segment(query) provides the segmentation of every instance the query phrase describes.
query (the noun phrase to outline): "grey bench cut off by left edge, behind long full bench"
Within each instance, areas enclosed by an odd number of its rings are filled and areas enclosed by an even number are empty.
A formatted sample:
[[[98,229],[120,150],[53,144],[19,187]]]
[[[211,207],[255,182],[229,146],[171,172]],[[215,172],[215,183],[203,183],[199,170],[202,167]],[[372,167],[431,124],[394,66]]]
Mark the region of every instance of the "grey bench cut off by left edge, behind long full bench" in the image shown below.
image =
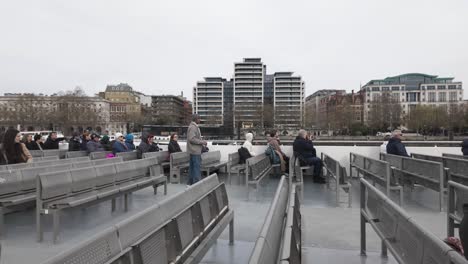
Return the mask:
[[[34,206],[36,200],[36,177],[39,173],[69,169],[71,164],[31,167],[0,172],[5,181],[0,184],[0,234],[4,233],[4,215]]]

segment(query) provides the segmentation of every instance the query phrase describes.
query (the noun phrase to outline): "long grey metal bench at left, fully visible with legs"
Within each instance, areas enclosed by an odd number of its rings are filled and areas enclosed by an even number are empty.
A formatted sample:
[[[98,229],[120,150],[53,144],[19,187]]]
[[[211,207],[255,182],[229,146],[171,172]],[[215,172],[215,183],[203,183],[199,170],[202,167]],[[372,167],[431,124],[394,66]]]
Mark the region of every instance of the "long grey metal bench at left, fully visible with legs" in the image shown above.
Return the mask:
[[[116,164],[71,169],[65,171],[40,173],[37,177],[36,230],[37,240],[42,241],[42,217],[53,216],[53,241],[59,233],[59,214],[61,210],[90,205],[124,196],[125,211],[128,208],[128,194],[152,186],[164,184],[167,193],[166,177],[150,175],[151,159],[140,159]],[[158,170],[157,170],[158,171]]]

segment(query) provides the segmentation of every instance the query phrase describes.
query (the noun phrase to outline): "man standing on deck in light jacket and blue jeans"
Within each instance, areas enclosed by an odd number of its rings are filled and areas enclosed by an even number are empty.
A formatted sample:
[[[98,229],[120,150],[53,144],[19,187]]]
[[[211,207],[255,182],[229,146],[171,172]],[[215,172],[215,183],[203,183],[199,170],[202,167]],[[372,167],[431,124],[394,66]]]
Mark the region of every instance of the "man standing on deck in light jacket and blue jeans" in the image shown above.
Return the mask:
[[[206,146],[206,141],[201,138],[200,116],[192,115],[192,122],[187,130],[187,152],[190,154],[189,180],[188,185],[192,185],[201,178],[201,153],[202,146]]]

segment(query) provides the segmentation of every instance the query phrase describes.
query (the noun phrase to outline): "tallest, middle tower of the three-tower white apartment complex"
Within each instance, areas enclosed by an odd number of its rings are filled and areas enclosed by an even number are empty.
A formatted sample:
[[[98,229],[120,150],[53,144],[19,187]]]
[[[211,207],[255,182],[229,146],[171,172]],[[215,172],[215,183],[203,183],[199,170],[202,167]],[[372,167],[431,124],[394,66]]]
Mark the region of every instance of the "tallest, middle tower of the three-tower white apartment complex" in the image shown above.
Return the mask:
[[[260,58],[234,63],[234,127],[263,127],[264,75]]]

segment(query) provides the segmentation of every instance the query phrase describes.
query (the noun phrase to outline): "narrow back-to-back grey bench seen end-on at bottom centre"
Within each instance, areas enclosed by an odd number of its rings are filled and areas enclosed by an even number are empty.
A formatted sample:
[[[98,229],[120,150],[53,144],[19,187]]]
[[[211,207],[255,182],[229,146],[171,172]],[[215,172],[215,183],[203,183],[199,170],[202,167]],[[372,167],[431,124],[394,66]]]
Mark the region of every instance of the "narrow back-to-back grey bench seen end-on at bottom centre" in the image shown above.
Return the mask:
[[[296,186],[285,176],[276,189],[250,255],[250,264],[301,263],[301,214]]]

